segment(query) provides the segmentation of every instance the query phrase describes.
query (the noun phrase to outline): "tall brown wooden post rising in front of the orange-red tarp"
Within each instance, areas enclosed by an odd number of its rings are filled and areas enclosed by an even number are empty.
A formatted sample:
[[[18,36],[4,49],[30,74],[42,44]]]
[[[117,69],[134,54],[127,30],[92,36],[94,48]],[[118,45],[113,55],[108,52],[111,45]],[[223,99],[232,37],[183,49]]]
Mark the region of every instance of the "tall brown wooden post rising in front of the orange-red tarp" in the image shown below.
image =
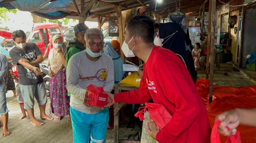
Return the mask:
[[[212,102],[212,95],[213,95],[213,74],[214,74],[214,33],[215,33],[215,11],[216,11],[216,0],[209,0],[209,15],[211,18],[209,18],[209,29],[208,29],[208,41],[207,45],[210,47],[210,51],[207,50],[207,55],[210,52],[210,89],[209,89],[209,103]],[[208,47],[207,47],[208,49]]]

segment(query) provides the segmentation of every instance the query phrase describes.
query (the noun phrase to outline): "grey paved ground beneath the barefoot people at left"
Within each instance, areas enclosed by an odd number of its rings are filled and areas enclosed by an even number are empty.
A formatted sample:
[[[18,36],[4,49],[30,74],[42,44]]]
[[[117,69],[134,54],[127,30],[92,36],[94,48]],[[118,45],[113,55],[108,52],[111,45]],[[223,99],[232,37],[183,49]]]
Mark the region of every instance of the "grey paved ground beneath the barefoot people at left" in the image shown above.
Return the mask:
[[[35,102],[36,103],[36,102]],[[16,97],[12,91],[7,93],[7,107],[9,109],[8,127],[11,132],[9,136],[0,135],[0,143],[73,143],[73,133],[71,123],[67,123],[67,118],[61,121],[41,120],[38,104],[35,104],[35,117],[43,122],[43,126],[33,126],[30,120],[25,118],[20,120],[21,111]],[[49,114],[49,98],[46,108]],[[1,120],[2,122],[2,120]],[[3,132],[3,125],[0,132]],[[113,142],[113,130],[107,131],[106,143]]]

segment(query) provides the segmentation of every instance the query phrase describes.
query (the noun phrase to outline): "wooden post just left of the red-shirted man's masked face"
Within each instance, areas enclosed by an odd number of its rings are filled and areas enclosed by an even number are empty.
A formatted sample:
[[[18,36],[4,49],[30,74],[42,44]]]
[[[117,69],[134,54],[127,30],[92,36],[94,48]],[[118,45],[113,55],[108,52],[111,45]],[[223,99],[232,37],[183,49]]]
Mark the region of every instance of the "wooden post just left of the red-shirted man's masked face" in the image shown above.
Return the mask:
[[[116,6],[115,10],[116,10],[116,14],[118,16],[119,43],[120,43],[120,45],[122,45],[122,43],[124,42],[124,39],[123,39],[121,4],[119,4],[119,6]],[[123,60],[123,62],[125,62],[125,56],[124,56],[124,53],[122,52],[122,50],[121,50],[121,59]]]

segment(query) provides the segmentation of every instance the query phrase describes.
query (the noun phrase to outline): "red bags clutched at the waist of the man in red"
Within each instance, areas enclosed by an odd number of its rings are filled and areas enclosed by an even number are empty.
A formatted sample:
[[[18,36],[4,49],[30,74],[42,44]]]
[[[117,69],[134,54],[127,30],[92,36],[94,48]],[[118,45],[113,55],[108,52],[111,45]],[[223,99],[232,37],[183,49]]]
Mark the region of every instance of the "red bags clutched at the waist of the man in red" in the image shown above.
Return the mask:
[[[143,113],[149,112],[149,118],[154,120],[159,129],[163,129],[164,126],[167,125],[172,119],[172,115],[166,110],[166,108],[161,104],[155,103],[145,103],[144,107],[140,107],[138,112],[134,115],[135,117],[139,117],[140,121],[144,120]]]

